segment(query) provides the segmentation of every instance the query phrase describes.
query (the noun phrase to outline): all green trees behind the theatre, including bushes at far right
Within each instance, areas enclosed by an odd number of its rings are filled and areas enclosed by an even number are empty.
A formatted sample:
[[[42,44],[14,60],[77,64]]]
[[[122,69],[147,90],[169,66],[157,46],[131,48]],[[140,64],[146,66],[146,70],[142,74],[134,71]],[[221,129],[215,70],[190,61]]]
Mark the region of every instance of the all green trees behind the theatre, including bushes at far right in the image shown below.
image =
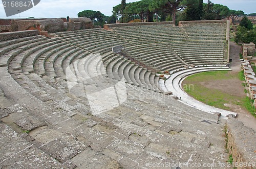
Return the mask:
[[[116,23],[116,20],[119,22],[174,21],[177,24],[181,20],[219,20],[227,17],[234,21],[238,16],[243,16],[234,41],[256,43],[256,27],[253,28],[243,11],[230,10],[210,0],[207,3],[203,3],[203,0],[141,0],[127,4],[125,0],[121,0],[121,4],[113,7],[112,12],[112,16],[105,16],[100,11],[84,10],[77,15],[88,17],[94,25],[101,27],[106,23]],[[256,16],[256,13],[248,16]]]

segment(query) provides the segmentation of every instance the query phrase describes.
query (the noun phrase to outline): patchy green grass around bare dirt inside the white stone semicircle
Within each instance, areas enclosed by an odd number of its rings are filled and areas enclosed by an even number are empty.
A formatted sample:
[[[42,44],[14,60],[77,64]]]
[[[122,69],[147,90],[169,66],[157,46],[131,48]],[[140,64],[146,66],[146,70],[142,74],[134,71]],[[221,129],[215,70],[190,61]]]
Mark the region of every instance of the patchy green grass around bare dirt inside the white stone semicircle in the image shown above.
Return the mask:
[[[183,86],[184,91],[189,95],[193,96],[200,102],[203,102],[207,105],[218,107],[224,110],[230,110],[230,107],[225,106],[224,104],[233,104],[238,105],[247,109],[255,118],[256,118],[256,109],[253,107],[253,100],[250,100],[248,96],[246,98],[241,98],[226,92],[223,92],[219,89],[207,88],[200,84],[200,82],[209,82],[214,80],[223,80],[223,79],[232,79],[239,78],[241,81],[245,80],[243,71],[240,71],[238,74],[228,74],[228,71],[209,71],[204,73],[195,74],[187,77]],[[191,86],[193,87],[187,87]],[[243,86],[246,86],[245,83],[242,83]],[[244,90],[247,93],[247,90]]]

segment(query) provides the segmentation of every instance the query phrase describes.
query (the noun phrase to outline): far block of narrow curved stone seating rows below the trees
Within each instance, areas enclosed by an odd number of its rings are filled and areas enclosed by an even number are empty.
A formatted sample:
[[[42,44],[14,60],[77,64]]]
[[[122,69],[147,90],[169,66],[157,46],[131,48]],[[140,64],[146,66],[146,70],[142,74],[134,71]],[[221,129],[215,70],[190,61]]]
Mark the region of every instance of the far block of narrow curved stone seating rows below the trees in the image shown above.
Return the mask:
[[[157,67],[174,70],[185,65],[227,64],[227,22],[111,27],[131,57]]]

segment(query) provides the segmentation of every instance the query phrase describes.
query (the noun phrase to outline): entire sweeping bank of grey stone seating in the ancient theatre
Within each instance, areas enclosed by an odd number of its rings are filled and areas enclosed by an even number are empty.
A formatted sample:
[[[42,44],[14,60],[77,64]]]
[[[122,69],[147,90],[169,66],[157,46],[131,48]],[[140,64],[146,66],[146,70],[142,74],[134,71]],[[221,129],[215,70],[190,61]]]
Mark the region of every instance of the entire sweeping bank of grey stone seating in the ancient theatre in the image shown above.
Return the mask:
[[[0,42],[0,168],[222,168],[230,154],[255,159],[254,131],[177,101],[152,71],[227,69],[227,25],[125,23]]]

